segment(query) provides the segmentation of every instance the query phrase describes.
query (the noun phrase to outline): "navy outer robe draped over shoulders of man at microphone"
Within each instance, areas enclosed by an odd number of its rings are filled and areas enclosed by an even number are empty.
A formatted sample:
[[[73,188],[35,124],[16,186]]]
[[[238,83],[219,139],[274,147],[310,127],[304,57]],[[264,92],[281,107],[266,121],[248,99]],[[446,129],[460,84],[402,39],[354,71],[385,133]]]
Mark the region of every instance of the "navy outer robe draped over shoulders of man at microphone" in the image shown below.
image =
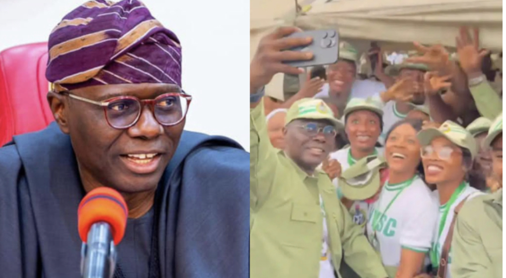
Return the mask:
[[[55,123],[0,148],[0,277],[80,277],[84,196],[70,138]],[[155,196],[149,276],[247,278],[248,196],[248,153],[184,131]]]

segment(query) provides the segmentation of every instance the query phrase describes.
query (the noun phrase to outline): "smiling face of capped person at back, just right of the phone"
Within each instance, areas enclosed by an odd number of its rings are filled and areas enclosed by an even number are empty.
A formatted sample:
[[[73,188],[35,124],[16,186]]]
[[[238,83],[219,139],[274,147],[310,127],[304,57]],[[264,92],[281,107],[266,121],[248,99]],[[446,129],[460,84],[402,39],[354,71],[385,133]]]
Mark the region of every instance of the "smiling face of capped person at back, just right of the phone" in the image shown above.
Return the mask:
[[[356,65],[347,60],[339,60],[328,66],[327,80],[331,92],[349,94],[357,74]]]

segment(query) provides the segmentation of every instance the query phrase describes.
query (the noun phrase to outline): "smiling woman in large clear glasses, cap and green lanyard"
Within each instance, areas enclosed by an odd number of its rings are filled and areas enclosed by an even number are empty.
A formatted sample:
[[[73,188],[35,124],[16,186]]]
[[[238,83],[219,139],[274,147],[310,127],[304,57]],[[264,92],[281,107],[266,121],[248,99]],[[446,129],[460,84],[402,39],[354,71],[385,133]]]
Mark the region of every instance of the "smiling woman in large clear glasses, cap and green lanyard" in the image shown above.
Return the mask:
[[[439,202],[439,215],[430,254],[433,267],[438,268],[455,208],[482,194],[467,181],[478,148],[473,135],[452,121],[444,122],[439,128],[422,130],[417,137],[422,145],[426,180],[437,188],[433,195]],[[446,278],[450,277],[451,263],[450,247],[445,262]]]

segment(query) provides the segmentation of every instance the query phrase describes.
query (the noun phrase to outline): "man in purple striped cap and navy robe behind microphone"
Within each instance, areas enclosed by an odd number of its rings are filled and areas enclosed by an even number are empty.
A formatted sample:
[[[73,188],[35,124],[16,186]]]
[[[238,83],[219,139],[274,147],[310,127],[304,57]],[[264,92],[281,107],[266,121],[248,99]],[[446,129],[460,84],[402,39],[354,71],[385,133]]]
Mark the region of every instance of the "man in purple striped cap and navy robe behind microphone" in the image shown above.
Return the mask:
[[[78,204],[110,187],[129,208],[114,277],[248,277],[249,155],[183,131],[176,34],[137,0],[94,0],[48,51],[55,122],[0,148],[2,276],[80,276]]]

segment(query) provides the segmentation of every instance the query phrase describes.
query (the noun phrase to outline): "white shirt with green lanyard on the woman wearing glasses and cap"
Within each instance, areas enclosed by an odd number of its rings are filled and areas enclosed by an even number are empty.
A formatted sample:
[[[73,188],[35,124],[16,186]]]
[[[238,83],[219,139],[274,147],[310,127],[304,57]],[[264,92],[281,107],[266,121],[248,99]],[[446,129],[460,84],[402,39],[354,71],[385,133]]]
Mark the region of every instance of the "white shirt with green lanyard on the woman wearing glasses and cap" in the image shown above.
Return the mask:
[[[448,228],[450,227],[451,221],[453,220],[453,211],[455,207],[466,197],[468,198],[466,200],[469,201],[472,198],[482,195],[483,193],[479,190],[472,188],[469,186],[469,183],[462,182],[460,186],[455,190],[455,192],[451,195],[450,199],[446,204],[439,206],[439,215],[437,220],[437,226],[435,229],[435,233],[433,236],[433,246],[431,248],[431,262],[433,267],[439,266],[439,259],[441,258],[441,251],[444,245],[444,242],[446,240],[446,236],[448,235]],[[439,203],[439,192],[436,190],[433,192],[434,198],[438,200]],[[469,197],[468,197],[469,196]],[[451,268],[451,247],[450,247],[450,253],[448,254],[448,267],[446,278],[450,278],[450,271]]]

